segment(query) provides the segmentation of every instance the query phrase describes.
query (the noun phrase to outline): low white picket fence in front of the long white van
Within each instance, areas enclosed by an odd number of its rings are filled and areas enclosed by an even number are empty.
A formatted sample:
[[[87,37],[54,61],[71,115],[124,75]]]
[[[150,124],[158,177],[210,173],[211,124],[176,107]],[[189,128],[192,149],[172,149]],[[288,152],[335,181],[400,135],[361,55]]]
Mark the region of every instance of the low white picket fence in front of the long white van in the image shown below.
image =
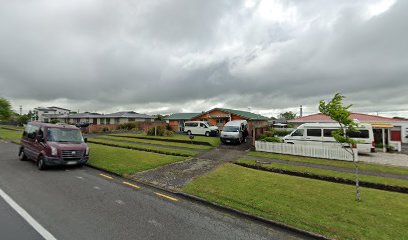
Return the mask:
[[[255,141],[255,149],[259,152],[353,161],[352,155],[338,143],[288,144]],[[355,160],[357,161],[358,151],[357,149],[354,150]]]

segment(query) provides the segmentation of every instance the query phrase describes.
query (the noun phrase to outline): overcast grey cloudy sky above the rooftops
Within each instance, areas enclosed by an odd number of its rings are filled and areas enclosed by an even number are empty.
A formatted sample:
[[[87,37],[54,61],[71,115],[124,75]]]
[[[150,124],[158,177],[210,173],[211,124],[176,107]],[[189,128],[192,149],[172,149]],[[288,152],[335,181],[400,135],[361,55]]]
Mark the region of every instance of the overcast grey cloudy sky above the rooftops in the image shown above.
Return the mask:
[[[408,1],[10,0],[0,96],[15,109],[266,116],[342,92],[408,117]]]

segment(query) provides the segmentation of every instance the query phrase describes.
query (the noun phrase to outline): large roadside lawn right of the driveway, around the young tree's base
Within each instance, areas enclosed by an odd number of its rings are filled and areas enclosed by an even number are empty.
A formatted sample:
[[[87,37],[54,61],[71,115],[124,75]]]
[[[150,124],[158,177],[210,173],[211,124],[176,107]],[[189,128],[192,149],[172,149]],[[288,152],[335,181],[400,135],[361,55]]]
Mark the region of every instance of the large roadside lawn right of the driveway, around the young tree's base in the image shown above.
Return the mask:
[[[185,192],[336,239],[406,239],[408,194],[224,164]]]

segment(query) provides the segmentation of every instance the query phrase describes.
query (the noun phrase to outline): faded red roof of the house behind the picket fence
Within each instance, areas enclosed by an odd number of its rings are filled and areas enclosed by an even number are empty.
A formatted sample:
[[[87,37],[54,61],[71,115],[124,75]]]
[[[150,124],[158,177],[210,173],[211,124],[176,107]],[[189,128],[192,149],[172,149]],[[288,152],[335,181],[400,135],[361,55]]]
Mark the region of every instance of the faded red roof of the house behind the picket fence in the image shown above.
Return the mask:
[[[374,116],[363,113],[352,113],[350,115],[351,119],[357,119],[360,122],[407,122],[407,120],[399,118],[388,118],[381,116]],[[309,116],[298,117],[288,122],[293,123],[305,123],[305,122],[334,122],[329,116],[324,115],[323,113],[316,113]]]

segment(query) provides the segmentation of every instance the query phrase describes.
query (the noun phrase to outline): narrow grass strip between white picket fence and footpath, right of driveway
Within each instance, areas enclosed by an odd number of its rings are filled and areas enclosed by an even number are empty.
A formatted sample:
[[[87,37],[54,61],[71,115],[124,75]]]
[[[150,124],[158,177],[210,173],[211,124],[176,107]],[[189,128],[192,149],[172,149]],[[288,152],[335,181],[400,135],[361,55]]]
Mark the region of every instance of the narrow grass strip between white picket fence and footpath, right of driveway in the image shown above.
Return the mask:
[[[264,158],[273,158],[273,159],[280,159],[280,160],[288,160],[288,161],[295,161],[295,162],[304,162],[304,163],[314,163],[314,164],[321,164],[327,166],[336,166],[336,167],[344,167],[344,168],[353,168],[353,162],[347,161],[340,161],[340,160],[328,160],[328,159],[321,159],[321,158],[311,158],[311,157],[302,157],[302,156],[294,156],[294,155],[285,155],[285,154],[278,154],[278,153],[267,153],[267,152],[249,152],[248,156],[255,156],[255,157],[264,157]],[[407,175],[408,168],[404,167],[391,167],[385,166],[380,164],[370,164],[370,163],[358,163],[359,169],[372,171],[372,172],[384,172],[384,173],[393,173],[393,174],[400,174],[400,175]]]

